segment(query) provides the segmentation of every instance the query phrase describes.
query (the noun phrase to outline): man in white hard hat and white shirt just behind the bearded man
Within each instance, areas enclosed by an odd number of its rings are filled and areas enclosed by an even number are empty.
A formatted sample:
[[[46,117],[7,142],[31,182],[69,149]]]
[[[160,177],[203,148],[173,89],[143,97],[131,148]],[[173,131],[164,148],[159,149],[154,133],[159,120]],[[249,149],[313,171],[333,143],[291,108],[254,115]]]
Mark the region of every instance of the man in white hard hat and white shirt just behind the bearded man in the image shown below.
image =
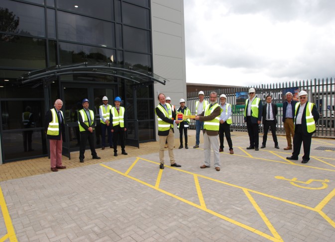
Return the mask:
[[[224,94],[220,95],[220,108],[222,110],[222,113],[220,115],[220,128],[219,128],[219,138],[220,138],[220,149],[219,152],[223,152],[223,142],[224,142],[224,135],[225,139],[228,142],[229,146],[229,153],[234,154],[234,151],[232,149],[232,142],[230,138],[230,124],[232,124],[231,121],[231,105],[229,103],[226,103],[227,97]]]

